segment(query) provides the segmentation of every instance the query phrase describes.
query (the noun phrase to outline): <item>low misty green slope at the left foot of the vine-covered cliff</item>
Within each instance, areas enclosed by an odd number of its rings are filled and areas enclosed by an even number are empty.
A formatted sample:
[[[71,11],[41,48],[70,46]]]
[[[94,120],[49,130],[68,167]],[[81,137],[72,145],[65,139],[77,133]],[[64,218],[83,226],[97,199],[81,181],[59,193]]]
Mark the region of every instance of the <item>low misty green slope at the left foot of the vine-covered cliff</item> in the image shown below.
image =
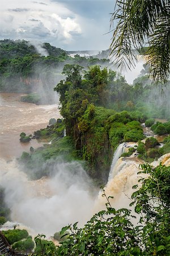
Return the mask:
[[[45,129],[35,131],[33,139],[45,141],[43,147],[31,148],[30,152],[23,152],[20,162],[25,164],[25,172],[32,179],[39,179],[42,176],[52,174],[49,166],[56,163],[56,159],[62,162],[81,160],[79,152],[74,148],[73,139],[69,136],[63,137],[65,125],[61,119],[57,119],[54,125]],[[82,163],[83,164],[83,163]]]

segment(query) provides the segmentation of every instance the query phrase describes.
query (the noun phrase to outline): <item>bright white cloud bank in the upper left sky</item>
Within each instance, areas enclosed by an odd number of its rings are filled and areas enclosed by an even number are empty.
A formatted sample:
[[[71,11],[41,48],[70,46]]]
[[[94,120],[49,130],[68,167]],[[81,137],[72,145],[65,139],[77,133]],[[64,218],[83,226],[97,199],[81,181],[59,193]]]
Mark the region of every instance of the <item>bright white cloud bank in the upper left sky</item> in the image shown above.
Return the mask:
[[[1,39],[57,40],[59,44],[69,44],[74,34],[82,32],[77,18],[61,3],[50,0],[6,1],[0,10],[0,35]]]

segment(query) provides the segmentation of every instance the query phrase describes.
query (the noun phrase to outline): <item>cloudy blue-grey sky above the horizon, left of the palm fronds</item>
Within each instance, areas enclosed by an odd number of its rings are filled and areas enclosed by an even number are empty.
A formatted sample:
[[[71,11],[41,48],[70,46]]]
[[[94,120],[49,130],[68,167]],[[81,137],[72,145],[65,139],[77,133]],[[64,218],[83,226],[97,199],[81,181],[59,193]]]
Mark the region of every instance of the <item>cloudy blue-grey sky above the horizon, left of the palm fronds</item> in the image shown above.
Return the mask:
[[[115,0],[0,0],[0,39],[48,42],[66,51],[111,43]]]

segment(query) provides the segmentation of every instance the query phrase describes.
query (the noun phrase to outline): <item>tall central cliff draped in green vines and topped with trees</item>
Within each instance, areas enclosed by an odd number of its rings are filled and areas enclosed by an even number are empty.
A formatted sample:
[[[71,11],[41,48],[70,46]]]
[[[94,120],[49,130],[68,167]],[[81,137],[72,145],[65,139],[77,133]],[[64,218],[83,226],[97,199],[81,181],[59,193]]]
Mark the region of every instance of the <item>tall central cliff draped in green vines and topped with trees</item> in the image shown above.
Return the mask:
[[[106,108],[117,97],[118,85],[129,88],[124,78],[116,78],[116,72],[99,66],[90,67],[83,77],[82,69],[79,65],[65,65],[66,80],[54,90],[60,96],[66,134],[73,139],[80,158],[87,160],[88,174],[105,183],[118,144],[137,142],[145,136],[133,113]]]

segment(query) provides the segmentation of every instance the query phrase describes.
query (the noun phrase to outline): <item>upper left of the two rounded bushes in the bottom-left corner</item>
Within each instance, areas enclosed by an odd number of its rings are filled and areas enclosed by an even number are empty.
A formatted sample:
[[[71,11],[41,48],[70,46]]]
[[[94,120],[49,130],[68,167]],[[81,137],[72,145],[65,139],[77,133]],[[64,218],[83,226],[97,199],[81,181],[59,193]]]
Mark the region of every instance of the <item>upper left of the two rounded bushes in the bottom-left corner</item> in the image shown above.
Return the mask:
[[[10,243],[10,245],[12,245],[12,243],[14,242],[18,242],[24,238],[28,237],[28,232],[25,229],[9,229],[6,231],[2,231],[2,233],[4,234],[4,236],[6,237],[8,243]]]

